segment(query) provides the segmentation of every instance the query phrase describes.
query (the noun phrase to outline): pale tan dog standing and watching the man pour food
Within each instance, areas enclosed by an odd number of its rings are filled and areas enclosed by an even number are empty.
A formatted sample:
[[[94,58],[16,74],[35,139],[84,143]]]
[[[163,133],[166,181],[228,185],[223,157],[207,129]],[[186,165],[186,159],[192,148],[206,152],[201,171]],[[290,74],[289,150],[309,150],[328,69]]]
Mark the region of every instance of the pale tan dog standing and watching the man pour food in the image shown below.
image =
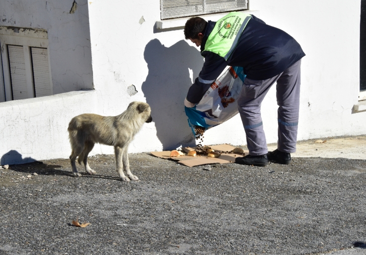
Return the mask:
[[[68,125],[71,144],[70,162],[75,177],[81,176],[77,171],[75,160],[84,163],[88,174],[96,174],[87,163],[87,156],[96,143],[114,146],[117,172],[123,181],[137,181],[137,176],[130,171],[128,145],[140,131],[142,125],[152,121],[151,108],[144,102],[132,102],[127,109],[117,116],[101,116],[85,113],[75,116]],[[125,176],[126,171],[128,177]]]

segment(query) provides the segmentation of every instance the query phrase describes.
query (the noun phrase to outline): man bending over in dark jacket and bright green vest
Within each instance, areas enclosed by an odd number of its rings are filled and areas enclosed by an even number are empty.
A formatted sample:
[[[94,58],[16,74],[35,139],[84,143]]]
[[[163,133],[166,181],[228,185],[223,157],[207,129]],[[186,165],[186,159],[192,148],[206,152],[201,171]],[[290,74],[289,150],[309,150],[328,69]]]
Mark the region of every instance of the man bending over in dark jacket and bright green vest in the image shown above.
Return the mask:
[[[232,12],[217,22],[194,17],[184,29],[186,39],[205,57],[204,66],[190,87],[185,106],[194,107],[226,66],[243,67],[246,78],[238,109],[246,134],[249,155],[236,158],[243,165],[266,166],[268,158],[291,162],[296,151],[300,104],[300,65],[305,53],[286,32],[268,26],[253,15]],[[261,102],[277,82],[278,149],[268,153]],[[268,154],[268,155],[267,155]]]

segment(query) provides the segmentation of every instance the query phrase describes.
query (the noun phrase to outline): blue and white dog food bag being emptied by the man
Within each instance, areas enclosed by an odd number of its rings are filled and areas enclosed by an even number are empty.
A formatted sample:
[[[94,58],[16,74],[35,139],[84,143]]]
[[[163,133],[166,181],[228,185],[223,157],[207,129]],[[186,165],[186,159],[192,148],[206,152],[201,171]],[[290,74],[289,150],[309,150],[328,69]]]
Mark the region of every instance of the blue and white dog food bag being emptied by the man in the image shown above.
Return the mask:
[[[206,91],[201,101],[192,108],[185,107],[188,124],[196,135],[196,126],[205,130],[221,124],[238,113],[239,98],[245,74],[242,67],[229,67]]]

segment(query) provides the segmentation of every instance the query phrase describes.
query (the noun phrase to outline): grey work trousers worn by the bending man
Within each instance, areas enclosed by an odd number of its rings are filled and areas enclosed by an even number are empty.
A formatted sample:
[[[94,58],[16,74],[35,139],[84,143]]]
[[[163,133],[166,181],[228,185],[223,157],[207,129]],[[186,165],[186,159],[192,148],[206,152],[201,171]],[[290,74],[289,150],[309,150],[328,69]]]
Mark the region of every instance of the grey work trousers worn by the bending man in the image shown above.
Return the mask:
[[[277,148],[281,152],[296,152],[300,105],[300,66],[301,60],[283,73],[267,80],[245,78],[238,98],[238,108],[244,125],[249,155],[268,153],[260,106],[264,96],[275,82],[277,82],[276,97],[279,105]]]

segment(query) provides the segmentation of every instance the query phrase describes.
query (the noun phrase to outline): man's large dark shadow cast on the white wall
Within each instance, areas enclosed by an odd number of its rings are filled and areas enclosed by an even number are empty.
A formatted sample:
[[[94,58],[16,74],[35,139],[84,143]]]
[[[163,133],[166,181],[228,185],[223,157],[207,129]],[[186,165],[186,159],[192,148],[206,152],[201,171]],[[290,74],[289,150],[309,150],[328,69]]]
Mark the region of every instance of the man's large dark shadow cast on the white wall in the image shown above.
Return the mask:
[[[144,58],[149,69],[142,91],[150,104],[156,135],[164,150],[195,145],[188,125],[183,101],[204,63],[200,52],[181,40],[165,47],[151,40],[145,47]]]

